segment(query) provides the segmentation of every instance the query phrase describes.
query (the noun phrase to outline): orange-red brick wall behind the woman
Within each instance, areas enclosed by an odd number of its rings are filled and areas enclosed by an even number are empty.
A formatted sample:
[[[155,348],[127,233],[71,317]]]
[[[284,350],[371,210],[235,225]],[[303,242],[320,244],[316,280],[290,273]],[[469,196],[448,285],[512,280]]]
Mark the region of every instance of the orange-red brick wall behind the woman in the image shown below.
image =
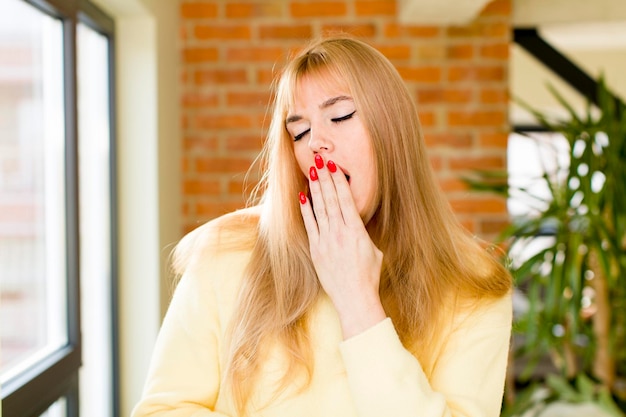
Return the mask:
[[[267,127],[269,84],[310,37],[350,32],[396,65],[418,102],[431,163],[462,222],[492,237],[502,199],[468,192],[474,168],[503,168],[511,0],[462,27],[398,23],[393,0],[180,1],[185,230],[244,205]]]

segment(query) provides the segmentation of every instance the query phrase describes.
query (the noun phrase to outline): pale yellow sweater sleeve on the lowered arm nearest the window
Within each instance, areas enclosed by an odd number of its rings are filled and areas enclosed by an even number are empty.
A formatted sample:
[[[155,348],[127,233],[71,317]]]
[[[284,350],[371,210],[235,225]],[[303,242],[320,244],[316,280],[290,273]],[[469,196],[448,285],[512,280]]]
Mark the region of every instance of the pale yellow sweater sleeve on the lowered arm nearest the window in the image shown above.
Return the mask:
[[[213,411],[220,389],[220,321],[210,271],[182,276],[159,331],[140,402],[131,416],[224,417]]]

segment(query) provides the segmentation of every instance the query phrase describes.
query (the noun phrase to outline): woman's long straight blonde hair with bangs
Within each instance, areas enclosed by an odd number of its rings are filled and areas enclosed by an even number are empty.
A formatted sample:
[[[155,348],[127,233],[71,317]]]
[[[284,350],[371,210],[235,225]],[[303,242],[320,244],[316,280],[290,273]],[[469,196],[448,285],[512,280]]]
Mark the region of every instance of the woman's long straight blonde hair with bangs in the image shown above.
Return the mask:
[[[225,383],[242,413],[258,377],[262,348],[270,340],[289,353],[281,388],[297,373],[310,377],[313,372],[307,320],[323,290],[297,198],[307,181],[285,128],[304,76],[345,86],[371,137],[380,191],[367,228],[384,254],[381,301],[405,346],[423,364],[431,363],[429,347],[436,340],[442,305],[501,297],[511,287],[506,270],[459,225],[437,186],[416,106],[392,64],[355,39],[313,42],[281,74],[262,152],[262,212],[228,335]],[[428,373],[430,367],[425,369]]]

